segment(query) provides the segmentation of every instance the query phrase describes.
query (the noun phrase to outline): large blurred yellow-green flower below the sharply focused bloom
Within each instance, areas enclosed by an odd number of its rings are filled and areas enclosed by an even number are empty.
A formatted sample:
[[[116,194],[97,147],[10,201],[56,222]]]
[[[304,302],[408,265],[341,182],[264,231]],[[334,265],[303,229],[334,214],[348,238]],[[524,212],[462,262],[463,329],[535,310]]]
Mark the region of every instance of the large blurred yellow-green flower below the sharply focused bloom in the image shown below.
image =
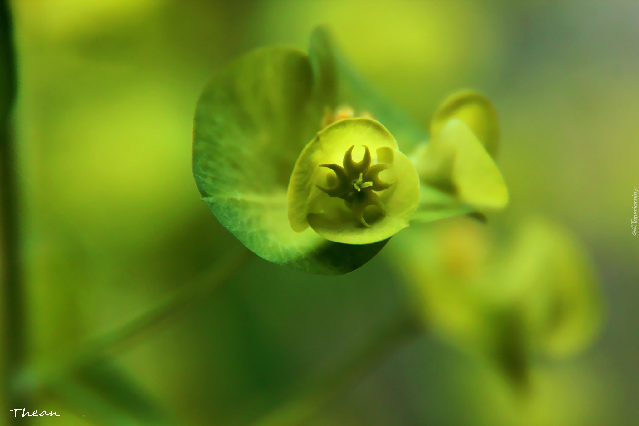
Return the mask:
[[[420,310],[448,342],[527,381],[534,354],[562,358],[587,347],[601,325],[589,261],[562,228],[539,218],[498,245],[470,219],[413,227],[390,253]]]

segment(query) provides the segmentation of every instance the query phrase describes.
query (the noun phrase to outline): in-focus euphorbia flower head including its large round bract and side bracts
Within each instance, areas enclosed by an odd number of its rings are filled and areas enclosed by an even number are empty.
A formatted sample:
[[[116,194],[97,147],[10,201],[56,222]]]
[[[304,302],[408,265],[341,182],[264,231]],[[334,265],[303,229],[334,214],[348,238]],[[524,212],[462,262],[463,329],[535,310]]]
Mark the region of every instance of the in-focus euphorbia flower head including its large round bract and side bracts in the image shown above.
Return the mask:
[[[481,125],[494,126],[485,105],[469,100],[436,116],[452,124],[429,148],[426,133],[358,79],[319,28],[308,55],[266,47],[212,77],[197,104],[193,174],[215,217],[259,256],[346,273],[411,222],[503,207],[504,197],[488,200],[505,186],[482,151]],[[438,165],[450,159],[452,173]]]

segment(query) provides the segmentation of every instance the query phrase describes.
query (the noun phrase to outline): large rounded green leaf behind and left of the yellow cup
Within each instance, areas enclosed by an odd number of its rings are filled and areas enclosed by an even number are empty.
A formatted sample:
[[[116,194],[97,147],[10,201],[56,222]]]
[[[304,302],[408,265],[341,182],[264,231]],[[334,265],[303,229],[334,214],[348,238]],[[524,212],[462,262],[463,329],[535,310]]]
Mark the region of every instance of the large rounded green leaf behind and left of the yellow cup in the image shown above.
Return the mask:
[[[289,224],[289,177],[321,122],[313,82],[309,57],[288,47],[256,50],[224,68],[197,103],[193,174],[215,217],[254,253],[337,275],[362,266],[385,241],[334,243]]]

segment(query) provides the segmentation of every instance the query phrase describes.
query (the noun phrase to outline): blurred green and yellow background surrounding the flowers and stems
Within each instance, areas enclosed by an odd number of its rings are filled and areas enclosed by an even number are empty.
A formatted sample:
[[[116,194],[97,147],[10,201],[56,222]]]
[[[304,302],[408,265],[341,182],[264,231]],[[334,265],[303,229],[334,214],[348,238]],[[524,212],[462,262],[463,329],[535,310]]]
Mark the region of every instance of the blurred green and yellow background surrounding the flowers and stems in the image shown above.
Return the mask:
[[[13,10],[31,361],[126,324],[241,248],[191,175],[197,97],[233,57],[271,43],[305,50],[312,27],[328,24],[424,128],[454,89],[488,95],[511,192],[498,229],[533,213],[566,225],[592,256],[607,316],[585,353],[540,361],[523,406],[485,365],[426,333],[307,424],[639,424],[639,241],[629,227],[638,4],[14,0]],[[341,277],[252,257],[112,363],[180,424],[251,424],[338,369],[409,302],[383,252]],[[38,423],[106,422],[41,397],[32,409],[62,416]]]

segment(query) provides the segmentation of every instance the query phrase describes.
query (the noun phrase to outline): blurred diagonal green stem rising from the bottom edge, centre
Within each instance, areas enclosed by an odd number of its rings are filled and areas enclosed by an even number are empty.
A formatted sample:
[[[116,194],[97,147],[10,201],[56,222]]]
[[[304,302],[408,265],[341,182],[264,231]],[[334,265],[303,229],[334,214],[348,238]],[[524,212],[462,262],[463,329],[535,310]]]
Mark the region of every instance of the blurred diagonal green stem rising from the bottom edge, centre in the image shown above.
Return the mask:
[[[357,347],[338,369],[325,377],[307,377],[305,388],[293,389],[295,395],[253,426],[298,426],[307,423],[335,397],[355,384],[366,372],[381,363],[389,354],[417,337],[424,328],[422,320],[412,312],[406,312],[378,331],[365,344]],[[307,383],[312,383],[308,387]]]

